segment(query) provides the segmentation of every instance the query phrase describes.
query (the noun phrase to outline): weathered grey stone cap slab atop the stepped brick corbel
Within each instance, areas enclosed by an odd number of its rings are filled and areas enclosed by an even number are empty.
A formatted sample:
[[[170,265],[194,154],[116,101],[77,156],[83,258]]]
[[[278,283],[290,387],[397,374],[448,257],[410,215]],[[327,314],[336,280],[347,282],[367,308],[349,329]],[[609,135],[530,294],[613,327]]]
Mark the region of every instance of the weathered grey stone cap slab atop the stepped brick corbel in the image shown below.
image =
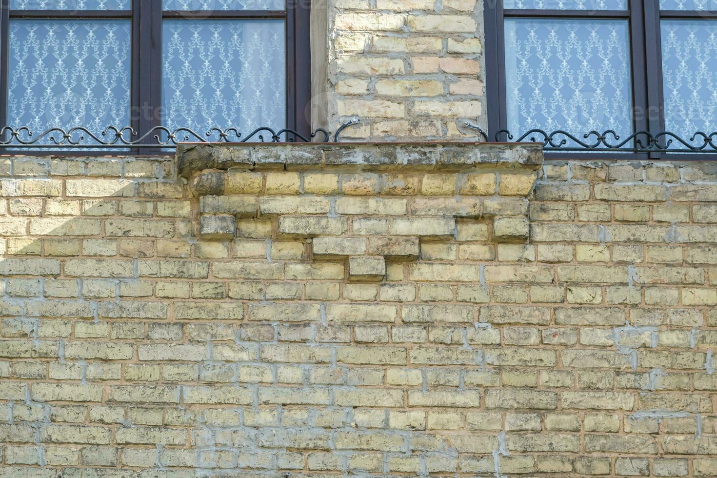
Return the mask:
[[[475,168],[537,170],[543,165],[540,143],[421,141],[412,143],[179,143],[180,176],[214,169],[255,171],[340,168],[351,171],[441,170]]]

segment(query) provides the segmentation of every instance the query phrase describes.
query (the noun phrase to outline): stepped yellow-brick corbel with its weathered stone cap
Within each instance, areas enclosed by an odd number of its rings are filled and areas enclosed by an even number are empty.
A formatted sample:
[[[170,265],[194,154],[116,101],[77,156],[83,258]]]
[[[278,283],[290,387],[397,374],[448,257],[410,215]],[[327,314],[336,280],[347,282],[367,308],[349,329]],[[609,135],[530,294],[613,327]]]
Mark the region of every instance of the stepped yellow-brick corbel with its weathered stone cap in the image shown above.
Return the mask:
[[[516,143],[194,144],[177,152],[199,201],[201,239],[234,239],[245,221],[267,221],[273,236],[302,240],[313,260],[346,261],[358,282],[381,281],[386,261],[417,260],[420,244],[457,237],[466,224],[493,242],[526,242],[527,197],[542,161],[536,145]],[[357,227],[361,217],[370,219]]]

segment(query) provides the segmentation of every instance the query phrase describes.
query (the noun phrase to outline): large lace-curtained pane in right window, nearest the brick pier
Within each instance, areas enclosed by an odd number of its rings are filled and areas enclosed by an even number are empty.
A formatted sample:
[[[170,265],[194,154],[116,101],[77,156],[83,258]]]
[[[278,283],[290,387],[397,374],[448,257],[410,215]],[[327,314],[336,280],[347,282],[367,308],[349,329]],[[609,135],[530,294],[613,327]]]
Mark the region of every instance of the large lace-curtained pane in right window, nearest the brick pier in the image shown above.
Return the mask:
[[[566,130],[579,139],[591,130],[630,135],[628,31],[622,20],[506,19],[506,102],[513,136],[533,128]]]

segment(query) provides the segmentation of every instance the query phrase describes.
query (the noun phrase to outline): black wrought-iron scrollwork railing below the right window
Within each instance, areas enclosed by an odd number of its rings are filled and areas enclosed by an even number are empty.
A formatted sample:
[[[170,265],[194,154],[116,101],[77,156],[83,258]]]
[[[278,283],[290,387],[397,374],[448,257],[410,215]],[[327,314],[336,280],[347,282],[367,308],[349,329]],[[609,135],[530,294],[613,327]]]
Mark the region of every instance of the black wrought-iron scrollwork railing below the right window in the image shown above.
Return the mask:
[[[466,121],[467,128],[477,130],[484,140],[488,141],[488,134],[480,126]],[[555,130],[550,133],[546,130],[532,129],[516,136],[508,130],[500,130],[495,133],[494,140],[497,142],[523,142],[543,143],[545,151],[619,151],[624,153],[717,153],[717,131],[704,133],[697,131],[689,140],[671,131],[652,134],[649,131],[638,131],[620,138],[614,130],[589,131],[576,137],[564,130]]]

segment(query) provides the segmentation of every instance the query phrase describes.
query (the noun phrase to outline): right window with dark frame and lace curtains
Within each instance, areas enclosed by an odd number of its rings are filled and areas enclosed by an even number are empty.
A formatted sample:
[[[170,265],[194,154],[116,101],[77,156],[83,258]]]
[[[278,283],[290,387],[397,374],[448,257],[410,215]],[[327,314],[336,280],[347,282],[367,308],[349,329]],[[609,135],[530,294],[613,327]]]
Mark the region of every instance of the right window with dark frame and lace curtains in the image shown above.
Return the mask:
[[[716,10],[717,0],[486,2],[490,137],[714,153]]]

